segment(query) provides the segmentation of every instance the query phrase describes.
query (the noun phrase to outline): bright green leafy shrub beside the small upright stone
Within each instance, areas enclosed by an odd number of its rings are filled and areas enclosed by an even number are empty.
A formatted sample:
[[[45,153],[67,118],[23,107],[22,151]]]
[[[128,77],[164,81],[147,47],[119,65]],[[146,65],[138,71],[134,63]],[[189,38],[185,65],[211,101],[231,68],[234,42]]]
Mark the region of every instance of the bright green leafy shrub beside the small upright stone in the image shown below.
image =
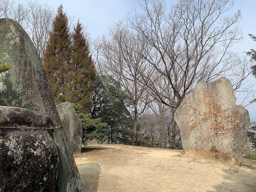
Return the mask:
[[[83,106],[79,103],[73,104],[76,113],[78,114],[83,128],[82,143],[87,145],[87,140],[99,139],[102,140],[107,130],[107,123],[102,123],[100,118],[92,119],[89,114],[82,113]]]

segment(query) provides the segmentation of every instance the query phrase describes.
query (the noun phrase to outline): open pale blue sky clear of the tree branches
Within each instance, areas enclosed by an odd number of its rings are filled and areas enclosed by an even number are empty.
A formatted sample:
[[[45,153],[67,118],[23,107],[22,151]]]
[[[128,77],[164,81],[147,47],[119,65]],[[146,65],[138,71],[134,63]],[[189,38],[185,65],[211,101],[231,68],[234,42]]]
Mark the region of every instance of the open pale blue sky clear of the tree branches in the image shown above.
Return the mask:
[[[16,0],[18,3],[26,4],[26,0]],[[168,5],[173,5],[177,0],[167,0]],[[63,8],[68,15],[75,16],[74,22],[80,19],[80,22],[87,26],[87,32],[91,38],[95,38],[103,33],[108,33],[108,26],[113,22],[125,16],[127,12],[139,10],[137,0],[38,0],[40,4],[48,4],[56,8],[62,3]],[[244,40],[237,43],[233,49],[237,52],[249,51],[251,48],[256,49],[256,42],[248,36],[248,34],[256,35],[256,1],[255,0],[235,0],[236,6],[230,10],[230,14],[241,10],[243,20],[239,23],[243,27]],[[250,81],[256,83],[256,79],[251,76]],[[256,86],[254,86],[256,89]],[[256,103],[247,107],[251,120],[256,120]]]

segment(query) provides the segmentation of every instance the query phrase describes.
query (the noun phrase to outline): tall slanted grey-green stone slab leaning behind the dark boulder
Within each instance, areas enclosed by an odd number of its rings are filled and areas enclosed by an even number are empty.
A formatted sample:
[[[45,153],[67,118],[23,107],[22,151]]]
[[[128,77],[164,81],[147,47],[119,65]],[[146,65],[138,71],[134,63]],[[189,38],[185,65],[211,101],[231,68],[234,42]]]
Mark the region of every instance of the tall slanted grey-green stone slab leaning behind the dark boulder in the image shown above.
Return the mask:
[[[0,19],[0,61],[12,68],[0,74],[2,105],[46,112],[52,127],[61,125],[44,67],[36,47],[24,29],[14,20]],[[74,157],[62,128],[49,132],[60,159],[58,191],[83,191]]]

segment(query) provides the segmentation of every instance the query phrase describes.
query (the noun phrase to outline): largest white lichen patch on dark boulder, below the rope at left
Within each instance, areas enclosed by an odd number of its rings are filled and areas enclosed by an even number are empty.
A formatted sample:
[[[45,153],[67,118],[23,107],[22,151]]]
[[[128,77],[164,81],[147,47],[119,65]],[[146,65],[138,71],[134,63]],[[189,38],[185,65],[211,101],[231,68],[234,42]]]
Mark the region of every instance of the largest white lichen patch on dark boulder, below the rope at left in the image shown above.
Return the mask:
[[[9,149],[8,155],[14,156],[14,162],[16,164],[20,164],[20,161],[22,160],[22,154],[23,150],[22,147],[18,145],[15,139],[10,138],[7,142],[5,142],[5,146]]]

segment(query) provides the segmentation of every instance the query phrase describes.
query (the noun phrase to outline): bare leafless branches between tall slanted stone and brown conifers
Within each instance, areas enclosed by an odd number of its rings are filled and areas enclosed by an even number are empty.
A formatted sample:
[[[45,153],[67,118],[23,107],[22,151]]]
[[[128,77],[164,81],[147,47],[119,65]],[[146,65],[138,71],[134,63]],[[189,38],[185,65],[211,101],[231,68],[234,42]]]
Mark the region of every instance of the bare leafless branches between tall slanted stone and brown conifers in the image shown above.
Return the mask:
[[[52,7],[37,1],[27,1],[25,6],[16,4],[15,0],[0,1],[0,17],[16,20],[32,39],[41,58],[55,15]]]

